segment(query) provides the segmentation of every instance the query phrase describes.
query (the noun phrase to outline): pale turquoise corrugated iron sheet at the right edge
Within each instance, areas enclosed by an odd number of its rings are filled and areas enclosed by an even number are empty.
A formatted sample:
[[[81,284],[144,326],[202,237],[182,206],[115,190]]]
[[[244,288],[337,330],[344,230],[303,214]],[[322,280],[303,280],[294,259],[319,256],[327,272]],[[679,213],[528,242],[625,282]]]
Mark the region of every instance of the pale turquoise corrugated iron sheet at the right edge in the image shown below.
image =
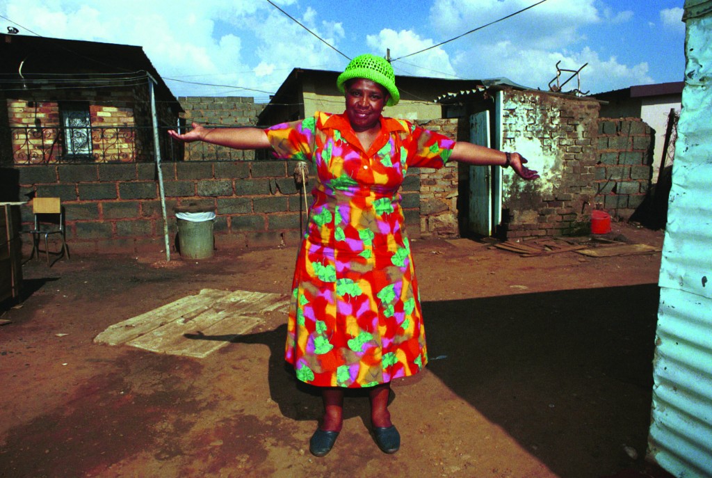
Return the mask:
[[[688,4],[686,4],[688,6]],[[663,246],[649,458],[712,477],[712,15],[688,16]]]

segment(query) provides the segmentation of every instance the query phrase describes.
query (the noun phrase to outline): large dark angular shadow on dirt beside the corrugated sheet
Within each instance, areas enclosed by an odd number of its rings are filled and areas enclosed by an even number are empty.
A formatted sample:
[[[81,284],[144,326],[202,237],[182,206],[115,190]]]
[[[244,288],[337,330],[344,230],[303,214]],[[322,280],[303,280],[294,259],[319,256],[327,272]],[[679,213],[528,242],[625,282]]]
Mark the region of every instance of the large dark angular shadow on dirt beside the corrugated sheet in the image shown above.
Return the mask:
[[[562,477],[646,450],[659,288],[423,304],[431,373]]]

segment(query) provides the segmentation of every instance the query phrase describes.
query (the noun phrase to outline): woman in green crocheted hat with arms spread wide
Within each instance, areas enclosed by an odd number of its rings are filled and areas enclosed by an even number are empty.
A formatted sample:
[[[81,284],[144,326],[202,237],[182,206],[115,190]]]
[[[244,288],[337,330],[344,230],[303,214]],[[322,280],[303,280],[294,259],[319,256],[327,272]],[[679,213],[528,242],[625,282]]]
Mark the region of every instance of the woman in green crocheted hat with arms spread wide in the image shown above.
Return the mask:
[[[398,189],[408,167],[448,160],[512,167],[538,177],[518,153],[455,142],[403,120],[384,118],[399,92],[378,56],[354,58],[337,79],[342,115],[257,128],[193,125],[182,141],[237,149],[272,147],[279,157],[309,160],[317,172],[308,232],[300,246],[288,319],[286,360],[297,378],[320,387],[323,420],[310,451],[323,457],[342,427],[344,388],[366,388],[378,447],[397,452],[400,435],[387,408],[390,382],[427,363],[417,280]]]

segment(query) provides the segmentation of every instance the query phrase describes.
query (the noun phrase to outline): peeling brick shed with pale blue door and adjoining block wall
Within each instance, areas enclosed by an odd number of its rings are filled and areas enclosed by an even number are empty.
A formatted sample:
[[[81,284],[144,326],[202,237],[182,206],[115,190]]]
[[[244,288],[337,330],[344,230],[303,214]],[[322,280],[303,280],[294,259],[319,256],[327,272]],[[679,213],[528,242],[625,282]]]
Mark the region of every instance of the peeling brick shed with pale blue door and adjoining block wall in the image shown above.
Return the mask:
[[[646,197],[651,129],[634,118],[602,120],[595,98],[505,83],[443,95],[444,118],[459,118],[461,140],[518,151],[540,172],[459,170],[461,231],[510,239],[588,232],[593,209],[628,219]],[[461,131],[462,131],[461,127]]]

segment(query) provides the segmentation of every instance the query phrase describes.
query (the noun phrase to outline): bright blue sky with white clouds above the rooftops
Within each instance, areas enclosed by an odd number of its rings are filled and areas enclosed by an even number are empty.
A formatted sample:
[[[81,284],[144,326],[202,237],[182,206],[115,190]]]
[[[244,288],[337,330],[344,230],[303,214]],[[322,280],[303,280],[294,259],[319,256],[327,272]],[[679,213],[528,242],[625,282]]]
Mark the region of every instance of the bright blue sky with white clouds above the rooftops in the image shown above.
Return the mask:
[[[345,56],[406,56],[538,0],[273,0]],[[683,0],[547,0],[392,64],[397,74],[506,77],[548,89],[555,65],[591,93],[684,76]],[[292,68],[342,70],[347,59],[267,0],[0,0],[0,28],[138,45],[177,96],[268,100]],[[31,68],[31,61],[25,67]],[[39,68],[39,67],[38,67]],[[38,71],[39,72],[39,71]],[[562,74],[562,78],[567,78]],[[177,80],[182,80],[177,81]],[[197,85],[192,83],[206,83]],[[567,88],[575,88],[575,82]]]

